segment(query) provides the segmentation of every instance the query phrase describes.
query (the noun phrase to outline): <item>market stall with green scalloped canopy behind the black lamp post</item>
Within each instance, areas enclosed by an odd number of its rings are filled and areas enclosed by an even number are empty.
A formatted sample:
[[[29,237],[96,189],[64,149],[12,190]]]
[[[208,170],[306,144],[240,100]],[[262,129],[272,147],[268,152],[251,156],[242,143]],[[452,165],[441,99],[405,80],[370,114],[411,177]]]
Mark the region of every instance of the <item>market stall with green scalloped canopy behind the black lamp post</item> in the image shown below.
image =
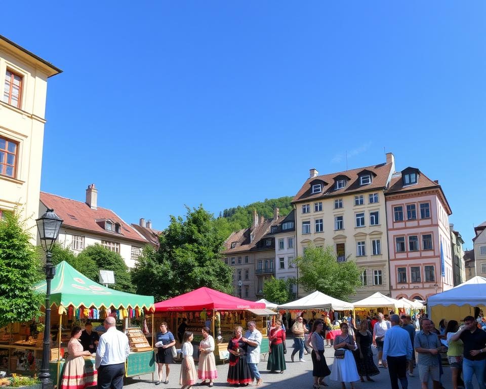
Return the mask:
[[[56,276],[51,282],[51,288],[50,370],[56,372],[52,377],[55,384],[62,371],[63,357],[67,352],[67,342],[73,326],[83,327],[84,323],[90,321],[93,327],[96,327],[102,324],[107,316],[113,316],[119,320],[118,324],[122,329],[126,329],[131,321],[142,322],[146,318],[151,318],[148,310],[153,309],[152,296],[140,296],[106,288],[88,279],[65,261],[56,266]],[[46,282],[37,284],[35,289],[39,293],[45,293]],[[43,309],[44,307],[41,308]],[[41,317],[32,323],[11,323],[7,328],[0,330],[0,355],[6,356],[7,360],[3,359],[2,362],[4,365],[7,364],[8,371],[34,373],[38,370],[42,358],[43,319]],[[152,345],[147,342],[145,336],[143,339],[144,342],[141,339],[138,344],[130,344],[132,353],[127,361],[128,366],[139,351],[149,351],[153,355]],[[142,344],[145,349],[142,349]],[[87,358],[86,366],[93,369],[93,361],[94,357]],[[147,365],[144,373],[153,371],[154,365]]]

